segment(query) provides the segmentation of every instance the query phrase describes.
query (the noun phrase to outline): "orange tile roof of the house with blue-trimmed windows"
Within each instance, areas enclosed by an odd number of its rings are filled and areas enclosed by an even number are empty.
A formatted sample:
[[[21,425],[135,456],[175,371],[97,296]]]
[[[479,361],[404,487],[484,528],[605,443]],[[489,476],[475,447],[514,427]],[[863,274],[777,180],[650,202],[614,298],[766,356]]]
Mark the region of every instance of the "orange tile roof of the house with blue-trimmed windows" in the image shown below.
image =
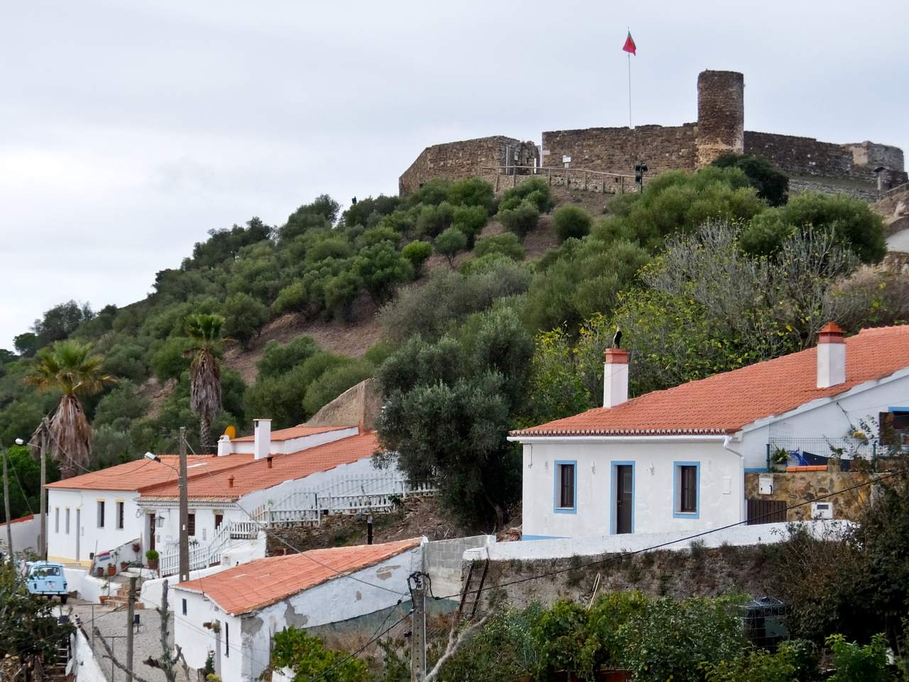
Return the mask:
[[[817,387],[817,349],[639,396],[612,408],[512,431],[512,436],[731,434],[816,398],[836,396],[909,366],[909,326],[863,329],[845,340],[846,381]]]

